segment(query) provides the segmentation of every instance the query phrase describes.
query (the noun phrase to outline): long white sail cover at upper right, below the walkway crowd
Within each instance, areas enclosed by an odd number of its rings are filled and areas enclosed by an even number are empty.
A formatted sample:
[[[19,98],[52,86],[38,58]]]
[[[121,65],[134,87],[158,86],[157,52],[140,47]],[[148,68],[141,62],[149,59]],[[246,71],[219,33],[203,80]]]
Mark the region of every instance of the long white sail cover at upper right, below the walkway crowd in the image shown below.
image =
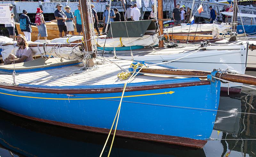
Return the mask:
[[[230,27],[231,25],[229,24],[194,24],[164,28],[164,33],[208,32],[213,30],[225,33]]]

